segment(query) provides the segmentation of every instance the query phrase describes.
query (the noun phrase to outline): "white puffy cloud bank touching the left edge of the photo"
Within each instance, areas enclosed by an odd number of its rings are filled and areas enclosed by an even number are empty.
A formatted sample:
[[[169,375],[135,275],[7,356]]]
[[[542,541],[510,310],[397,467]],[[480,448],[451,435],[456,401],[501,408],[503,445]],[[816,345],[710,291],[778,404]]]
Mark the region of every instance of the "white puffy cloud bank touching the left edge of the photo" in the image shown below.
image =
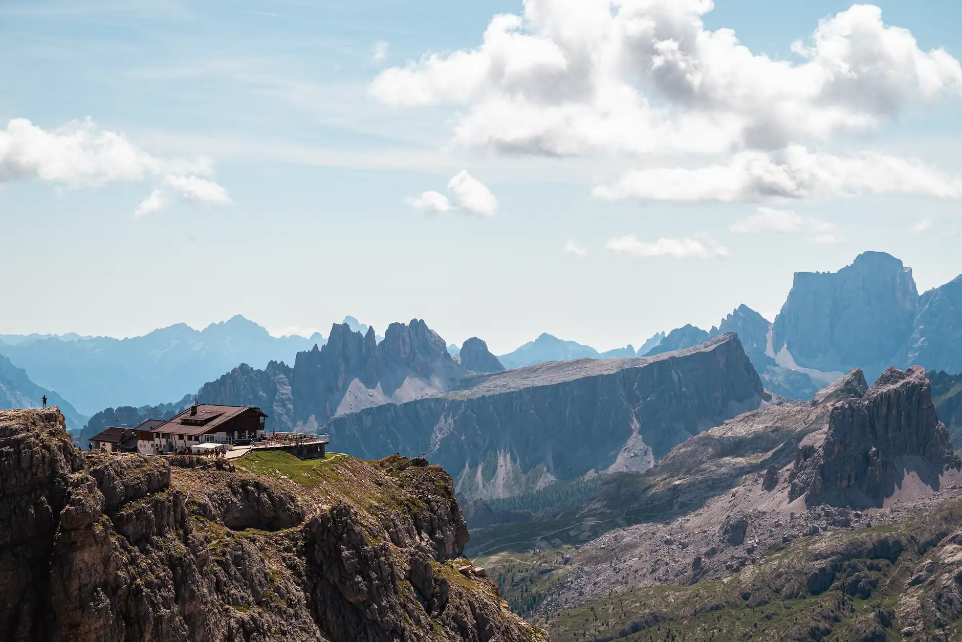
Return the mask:
[[[139,149],[126,136],[99,129],[90,119],[44,130],[27,119],[0,130],[0,184],[39,179],[70,187],[159,181],[136,213],[163,209],[171,193],[201,203],[229,203],[227,191],[197,174],[207,160],[165,160]]]

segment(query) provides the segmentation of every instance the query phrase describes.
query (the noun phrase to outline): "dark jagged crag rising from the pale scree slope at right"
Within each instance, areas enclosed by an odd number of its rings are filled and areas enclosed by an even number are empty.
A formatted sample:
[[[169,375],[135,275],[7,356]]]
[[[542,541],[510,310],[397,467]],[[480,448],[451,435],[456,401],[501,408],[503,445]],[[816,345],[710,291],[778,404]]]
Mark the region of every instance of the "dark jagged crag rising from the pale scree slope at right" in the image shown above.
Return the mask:
[[[864,385],[860,374],[849,373],[840,391],[856,394]],[[789,499],[804,496],[808,506],[881,506],[906,475],[938,487],[949,466],[960,462],[936,415],[924,369],[889,368],[861,397],[837,402],[827,429],[799,442]]]

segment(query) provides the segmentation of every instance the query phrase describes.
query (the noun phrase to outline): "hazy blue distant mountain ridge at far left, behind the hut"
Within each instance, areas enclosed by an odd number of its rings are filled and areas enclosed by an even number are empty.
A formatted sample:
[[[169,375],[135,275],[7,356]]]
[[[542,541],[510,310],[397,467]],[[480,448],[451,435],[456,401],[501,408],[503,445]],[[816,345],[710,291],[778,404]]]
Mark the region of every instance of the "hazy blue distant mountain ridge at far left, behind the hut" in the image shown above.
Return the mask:
[[[179,399],[238,363],[293,360],[323,337],[273,337],[241,315],[194,330],[177,324],[125,339],[75,334],[0,336],[0,354],[81,412],[118,402],[139,407]]]

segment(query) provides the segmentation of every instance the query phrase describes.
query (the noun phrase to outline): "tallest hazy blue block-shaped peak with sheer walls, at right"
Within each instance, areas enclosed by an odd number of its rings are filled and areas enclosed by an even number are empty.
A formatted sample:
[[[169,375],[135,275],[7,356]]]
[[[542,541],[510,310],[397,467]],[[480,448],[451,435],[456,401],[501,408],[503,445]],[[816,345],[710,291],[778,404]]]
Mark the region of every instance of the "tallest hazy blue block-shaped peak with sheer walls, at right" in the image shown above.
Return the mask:
[[[871,380],[904,362],[918,300],[911,268],[881,252],[861,254],[835,273],[797,272],[772,347],[788,350],[799,366],[863,368]]]

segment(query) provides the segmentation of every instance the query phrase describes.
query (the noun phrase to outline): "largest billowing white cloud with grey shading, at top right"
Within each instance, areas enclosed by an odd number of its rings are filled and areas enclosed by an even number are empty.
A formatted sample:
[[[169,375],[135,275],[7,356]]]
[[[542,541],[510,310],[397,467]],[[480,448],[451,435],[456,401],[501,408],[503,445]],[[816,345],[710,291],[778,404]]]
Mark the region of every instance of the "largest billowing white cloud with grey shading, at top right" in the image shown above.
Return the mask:
[[[482,44],[379,74],[399,107],[467,106],[455,138],[535,154],[779,149],[864,132],[913,103],[962,92],[943,49],[855,5],[820,21],[801,62],[752,53],[706,30],[711,0],[526,0]]]

